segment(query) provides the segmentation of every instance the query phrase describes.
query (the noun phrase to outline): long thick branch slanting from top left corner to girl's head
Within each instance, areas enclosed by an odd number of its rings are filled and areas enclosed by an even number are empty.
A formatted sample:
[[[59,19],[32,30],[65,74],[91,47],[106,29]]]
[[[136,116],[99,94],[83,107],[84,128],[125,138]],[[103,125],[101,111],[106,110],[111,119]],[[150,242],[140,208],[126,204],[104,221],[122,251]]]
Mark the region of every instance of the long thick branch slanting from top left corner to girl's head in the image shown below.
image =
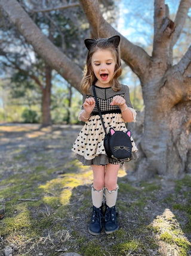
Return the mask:
[[[16,0],[0,0],[0,8],[10,17],[26,41],[44,61],[80,91],[82,70],[61,52],[35,25]]]

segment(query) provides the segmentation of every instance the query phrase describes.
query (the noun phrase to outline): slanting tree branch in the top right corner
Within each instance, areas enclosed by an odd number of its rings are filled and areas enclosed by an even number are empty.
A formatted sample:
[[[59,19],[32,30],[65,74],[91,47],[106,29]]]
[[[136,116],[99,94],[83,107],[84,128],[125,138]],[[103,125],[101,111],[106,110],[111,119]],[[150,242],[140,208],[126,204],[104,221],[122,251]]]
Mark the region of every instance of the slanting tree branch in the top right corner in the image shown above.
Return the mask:
[[[174,46],[174,44],[177,42],[178,38],[180,37],[181,30],[183,29],[185,20],[187,19],[187,13],[191,7],[191,0],[181,0],[177,15],[175,17],[174,23],[175,23],[175,31],[173,34],[173,38],[171,41],[171,47]]]

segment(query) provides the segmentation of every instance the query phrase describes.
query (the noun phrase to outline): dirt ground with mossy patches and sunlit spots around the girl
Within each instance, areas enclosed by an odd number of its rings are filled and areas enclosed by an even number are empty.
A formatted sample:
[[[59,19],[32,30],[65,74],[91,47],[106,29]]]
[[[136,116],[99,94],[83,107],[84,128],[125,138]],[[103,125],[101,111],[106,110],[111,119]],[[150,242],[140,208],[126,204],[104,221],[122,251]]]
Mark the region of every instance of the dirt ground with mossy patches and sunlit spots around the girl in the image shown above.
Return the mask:
[[[191,176],[119,171],[119,230],[88,233],[90,167],[75,159],[81,127],[0,125],[0,255],[191,255]]]

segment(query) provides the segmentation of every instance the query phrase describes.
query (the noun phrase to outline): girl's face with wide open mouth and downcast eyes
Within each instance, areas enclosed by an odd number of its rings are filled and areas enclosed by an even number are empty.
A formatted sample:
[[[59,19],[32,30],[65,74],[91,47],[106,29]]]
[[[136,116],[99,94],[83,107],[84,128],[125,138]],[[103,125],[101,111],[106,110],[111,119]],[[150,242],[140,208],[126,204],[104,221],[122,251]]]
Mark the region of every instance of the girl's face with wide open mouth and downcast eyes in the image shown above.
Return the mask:
[[[91,58],[91,66],[97,77],[96,85],[100,87],[112,86],[115,71],[115,59],[110,50],[97,50]]]

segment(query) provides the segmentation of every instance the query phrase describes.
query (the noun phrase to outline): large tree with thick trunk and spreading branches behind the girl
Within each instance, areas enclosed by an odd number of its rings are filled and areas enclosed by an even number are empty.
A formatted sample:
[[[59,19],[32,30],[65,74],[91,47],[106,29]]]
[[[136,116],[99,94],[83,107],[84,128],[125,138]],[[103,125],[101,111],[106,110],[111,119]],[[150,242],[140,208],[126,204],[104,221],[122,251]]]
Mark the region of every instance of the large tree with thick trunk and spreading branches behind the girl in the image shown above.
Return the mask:
[[[104,19],[98,1],[79,2],[93,37],[119,34]],[[39,56],[79,90],[82,77],[79,65],[48,40],[16,0],[0,0],[0,7]],[[190,171],[187,167],[191,150],[191,46],[177,64],[172,63],[173,47],[180,37],[190,7],[190,0],[181,0],[172,21],[165,1],[155,0],[151,55],[121,35],[122,59],[137,74],[143,92],[144,129],[137,173],[144,177],[156,172],[177,176],[183,171]]]

